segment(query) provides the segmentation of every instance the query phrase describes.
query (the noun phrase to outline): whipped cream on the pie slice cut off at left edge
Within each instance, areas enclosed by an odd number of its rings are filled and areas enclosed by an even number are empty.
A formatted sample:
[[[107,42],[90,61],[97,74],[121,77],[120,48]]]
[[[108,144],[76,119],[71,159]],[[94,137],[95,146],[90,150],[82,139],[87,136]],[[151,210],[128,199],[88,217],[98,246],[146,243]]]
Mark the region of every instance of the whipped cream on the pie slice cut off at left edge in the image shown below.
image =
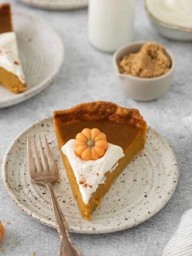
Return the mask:
[[[21,62],[19,60],[17,38],[14,32],[0,34],[0,67],[13,73],[25,84]]]

